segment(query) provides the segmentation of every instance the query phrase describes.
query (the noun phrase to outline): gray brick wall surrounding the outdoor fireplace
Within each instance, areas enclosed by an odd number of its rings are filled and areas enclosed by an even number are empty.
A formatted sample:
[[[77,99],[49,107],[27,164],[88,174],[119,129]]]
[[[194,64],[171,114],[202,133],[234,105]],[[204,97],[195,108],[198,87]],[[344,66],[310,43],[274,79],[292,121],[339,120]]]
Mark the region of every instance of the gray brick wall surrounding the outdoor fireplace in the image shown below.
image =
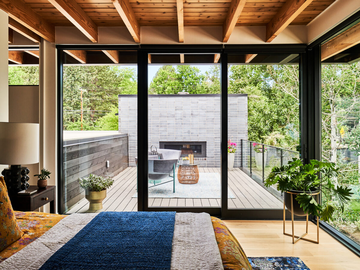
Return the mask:
[[[119,95],[119,131],[129,134],[129,165],[137,156],[137,95]],[[220,95],[149,95],[149,148],[159,141],[206,141],[204,167],[220,167]],[[247,95],[229,95],[229,138],[247,139]],[[235,157],[234,166],[240,165]]]

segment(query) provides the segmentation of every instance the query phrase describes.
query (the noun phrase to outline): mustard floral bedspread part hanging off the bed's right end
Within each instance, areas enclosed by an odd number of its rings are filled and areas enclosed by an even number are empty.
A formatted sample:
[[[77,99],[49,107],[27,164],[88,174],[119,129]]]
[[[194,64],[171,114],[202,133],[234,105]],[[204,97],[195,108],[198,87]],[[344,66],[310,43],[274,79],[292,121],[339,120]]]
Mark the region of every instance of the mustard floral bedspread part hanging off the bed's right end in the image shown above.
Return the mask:
[[[224,270],[252,270],[244,250],[220,219],[211,217]]]

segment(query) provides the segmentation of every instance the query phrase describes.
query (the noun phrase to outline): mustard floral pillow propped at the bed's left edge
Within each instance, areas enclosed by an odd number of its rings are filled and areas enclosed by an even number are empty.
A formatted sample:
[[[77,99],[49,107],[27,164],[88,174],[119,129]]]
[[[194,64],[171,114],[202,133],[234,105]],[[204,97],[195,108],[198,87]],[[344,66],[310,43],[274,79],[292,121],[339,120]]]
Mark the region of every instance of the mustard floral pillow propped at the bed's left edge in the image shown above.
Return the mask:
[[[0,177],[0,251],[21,238],[24,233],[20,230],[13,207],[11,206],[8,189],[4,177]]]

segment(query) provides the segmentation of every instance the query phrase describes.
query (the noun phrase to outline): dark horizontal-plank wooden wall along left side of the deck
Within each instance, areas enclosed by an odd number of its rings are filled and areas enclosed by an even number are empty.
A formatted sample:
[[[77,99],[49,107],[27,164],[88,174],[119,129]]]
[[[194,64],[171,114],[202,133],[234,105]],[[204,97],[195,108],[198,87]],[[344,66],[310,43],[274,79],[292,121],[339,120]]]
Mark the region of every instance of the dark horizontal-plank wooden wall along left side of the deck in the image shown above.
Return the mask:
[[[81,199],[85,190],[78,178],[95,174],[113,177],[129,165],[127,134],[64,141],[63,209],[67,212]],[[110,166],[106,167],[106,161]]]

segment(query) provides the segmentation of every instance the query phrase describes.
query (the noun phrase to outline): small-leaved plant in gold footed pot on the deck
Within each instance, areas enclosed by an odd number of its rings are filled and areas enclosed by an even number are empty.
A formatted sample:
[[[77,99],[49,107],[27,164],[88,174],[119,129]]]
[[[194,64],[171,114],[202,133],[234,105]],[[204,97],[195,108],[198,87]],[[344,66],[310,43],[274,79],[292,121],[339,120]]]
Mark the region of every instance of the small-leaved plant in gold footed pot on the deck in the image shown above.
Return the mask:
[[[106,189],[111,187],[114,180],[90,174],[88,177],[79,178],[79,185],[85,189],[85,198],[89,201],[89,210],[103,209],[103,200],[106,198]]]

